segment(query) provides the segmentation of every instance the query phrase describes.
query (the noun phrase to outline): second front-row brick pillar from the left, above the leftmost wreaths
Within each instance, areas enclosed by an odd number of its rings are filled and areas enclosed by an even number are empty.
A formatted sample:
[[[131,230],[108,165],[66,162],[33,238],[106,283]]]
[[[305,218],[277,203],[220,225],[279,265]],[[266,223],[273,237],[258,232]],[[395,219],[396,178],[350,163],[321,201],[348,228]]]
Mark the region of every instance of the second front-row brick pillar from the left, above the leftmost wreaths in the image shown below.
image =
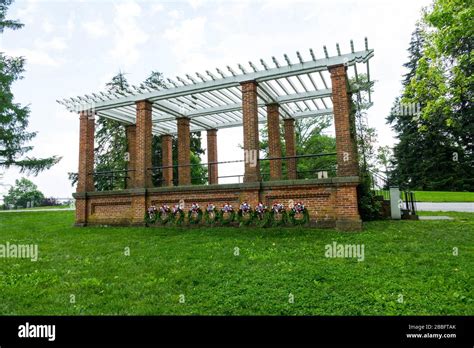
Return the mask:
[[[136,159],[135,159],[135,187],[151,187],[151,103],[147,100],[136,102]]]

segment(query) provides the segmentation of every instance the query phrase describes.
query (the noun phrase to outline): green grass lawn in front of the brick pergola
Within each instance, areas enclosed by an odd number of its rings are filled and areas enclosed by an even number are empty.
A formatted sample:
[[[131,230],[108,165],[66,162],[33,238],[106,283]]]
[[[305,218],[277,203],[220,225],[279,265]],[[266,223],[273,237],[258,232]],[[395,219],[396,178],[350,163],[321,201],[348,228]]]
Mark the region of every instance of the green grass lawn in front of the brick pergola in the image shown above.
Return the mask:
[[[344,233],[74,228],[73,212],[1,214],[0,244],[37,243],[39,260],[0,258],[0,314],[473,315],[474,214],[443,215],[455,220]],[[333,241],[363,244],[364,261],[326,258]]]

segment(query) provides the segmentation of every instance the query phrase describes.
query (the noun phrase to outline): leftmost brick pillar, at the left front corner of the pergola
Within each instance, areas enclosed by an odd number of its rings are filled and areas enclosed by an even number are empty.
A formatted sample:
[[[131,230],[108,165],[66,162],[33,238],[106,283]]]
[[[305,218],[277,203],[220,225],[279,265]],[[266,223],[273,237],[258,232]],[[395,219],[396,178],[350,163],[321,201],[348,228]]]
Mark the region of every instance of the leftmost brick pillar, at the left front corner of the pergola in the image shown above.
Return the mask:
[[[79,116],[79,171],[76,192],[94,191],[94,114],[83,111]]]

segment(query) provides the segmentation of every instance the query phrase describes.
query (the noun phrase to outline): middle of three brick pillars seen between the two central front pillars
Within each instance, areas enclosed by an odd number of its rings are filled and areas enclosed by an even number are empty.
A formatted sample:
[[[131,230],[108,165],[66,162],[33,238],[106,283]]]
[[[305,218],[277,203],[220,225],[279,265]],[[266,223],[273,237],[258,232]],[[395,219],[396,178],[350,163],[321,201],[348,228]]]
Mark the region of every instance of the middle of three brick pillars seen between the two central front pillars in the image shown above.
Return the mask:
[[[191,185],[191,134],[189,132],[189,118],[180,117],[178,122],[178,184]]]

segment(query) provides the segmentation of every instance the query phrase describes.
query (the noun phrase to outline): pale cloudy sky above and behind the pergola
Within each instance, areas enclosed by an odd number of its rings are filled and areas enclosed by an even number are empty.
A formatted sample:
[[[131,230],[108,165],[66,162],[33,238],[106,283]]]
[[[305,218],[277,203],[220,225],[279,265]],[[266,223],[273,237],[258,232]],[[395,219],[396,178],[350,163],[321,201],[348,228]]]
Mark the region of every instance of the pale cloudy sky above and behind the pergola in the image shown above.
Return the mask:
[[[416,21],[430,0],[182,0],[182,1],[15,1],[8,18],[25,24],[0,35],[0,52],[26,58],[23,79],[15,82],[15,102],[31,109],[30,142],[36,157],[61,156],[52,169],[29,177],[48,197],[68,198],[75,191],[68,172],[77,172],[79,118],[57,99],[104,89],[118,71],[129,82],[142,82],[151,71],[175,78],[186,73],[233,67],[249,60],[309,59],[364,48],[374,49],[370,61],[375,80],[369,125],[379,145],[393,145],[385,123],[400,93],[407,47]],[[205,133],[203,144],[205,147]],[[218,132],[219,161],[243,159],[242,129]],[[205,158],[204,158],[205,160]],[[220,167],[219,175],[240,167]],[[25,176],[10,168],[3,173],[0,195]]]

